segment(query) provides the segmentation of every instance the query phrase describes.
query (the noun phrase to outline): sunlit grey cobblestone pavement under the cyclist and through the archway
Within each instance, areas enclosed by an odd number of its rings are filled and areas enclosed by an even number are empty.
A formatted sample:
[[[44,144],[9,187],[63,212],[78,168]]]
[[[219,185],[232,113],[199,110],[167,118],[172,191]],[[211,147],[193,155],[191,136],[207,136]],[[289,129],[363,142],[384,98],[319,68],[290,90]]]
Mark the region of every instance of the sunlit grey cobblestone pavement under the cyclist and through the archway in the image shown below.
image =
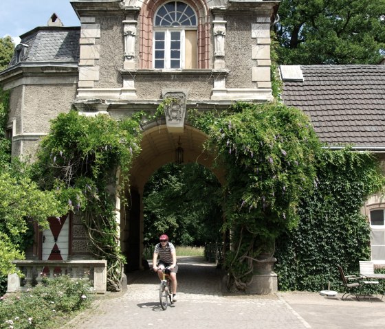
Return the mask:
[[[163,311],[152,271],[128,275],[127,291],[107,294],[64,328],[384,328],[385,300],[341,301],[318,293],[223,295],[222,273],[203,258],[178,258],[178,302]]]

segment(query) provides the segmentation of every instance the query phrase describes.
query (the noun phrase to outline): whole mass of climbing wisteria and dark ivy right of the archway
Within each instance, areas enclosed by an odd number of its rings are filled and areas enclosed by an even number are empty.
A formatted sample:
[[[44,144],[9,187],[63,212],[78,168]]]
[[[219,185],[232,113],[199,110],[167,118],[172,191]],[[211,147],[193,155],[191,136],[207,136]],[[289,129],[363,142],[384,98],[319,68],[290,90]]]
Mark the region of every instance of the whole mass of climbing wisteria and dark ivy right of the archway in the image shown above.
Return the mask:
[[[245,290],[255,262],[278,258],[281,289],[319,290],[336,282],[336,264],[353,270],[369,257],[360,207],[384,186],[378,162],[349,148],[321,148],[307,117],[283,104],[237,103],[228,111],[191,111],[206,148],[227,172],[225,255],[228,288]]]

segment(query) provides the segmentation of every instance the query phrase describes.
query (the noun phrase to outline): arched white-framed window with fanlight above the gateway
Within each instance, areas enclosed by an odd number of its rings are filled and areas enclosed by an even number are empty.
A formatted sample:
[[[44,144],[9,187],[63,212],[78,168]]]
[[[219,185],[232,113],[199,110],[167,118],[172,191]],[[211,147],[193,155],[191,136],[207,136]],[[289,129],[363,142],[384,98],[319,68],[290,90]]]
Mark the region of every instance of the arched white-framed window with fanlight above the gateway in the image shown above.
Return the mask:
[[[186,3],[161,5],[154,16],[153,67],[197,68],[197,14]]]

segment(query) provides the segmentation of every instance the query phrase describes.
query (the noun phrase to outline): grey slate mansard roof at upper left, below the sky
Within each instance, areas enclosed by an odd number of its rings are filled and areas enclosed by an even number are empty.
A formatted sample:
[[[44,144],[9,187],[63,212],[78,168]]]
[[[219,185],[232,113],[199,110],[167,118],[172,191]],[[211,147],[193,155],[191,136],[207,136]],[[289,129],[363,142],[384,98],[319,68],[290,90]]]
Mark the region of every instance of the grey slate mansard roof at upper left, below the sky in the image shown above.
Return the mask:
[[[21,36],[21,63],[78,62],[80,27],[36,27]],[[16,64],[16,55],[10,65]]]

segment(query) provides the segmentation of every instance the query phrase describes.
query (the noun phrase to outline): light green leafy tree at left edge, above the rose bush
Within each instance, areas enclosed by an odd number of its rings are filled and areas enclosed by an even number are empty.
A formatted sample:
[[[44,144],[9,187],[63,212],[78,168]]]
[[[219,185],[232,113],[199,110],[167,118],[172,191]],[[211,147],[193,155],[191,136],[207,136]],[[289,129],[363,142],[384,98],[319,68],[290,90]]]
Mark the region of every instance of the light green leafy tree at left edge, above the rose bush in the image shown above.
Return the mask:
[[[9,93],[0,89],[0,282],[14,271],[12,260],[23,259],[32,243],[30,224],[47,227],[47,217],[61,216],[67,207],[54,192],[42,192],[28,177],[28,164],[10,156],[10,141],[5,139]]]

